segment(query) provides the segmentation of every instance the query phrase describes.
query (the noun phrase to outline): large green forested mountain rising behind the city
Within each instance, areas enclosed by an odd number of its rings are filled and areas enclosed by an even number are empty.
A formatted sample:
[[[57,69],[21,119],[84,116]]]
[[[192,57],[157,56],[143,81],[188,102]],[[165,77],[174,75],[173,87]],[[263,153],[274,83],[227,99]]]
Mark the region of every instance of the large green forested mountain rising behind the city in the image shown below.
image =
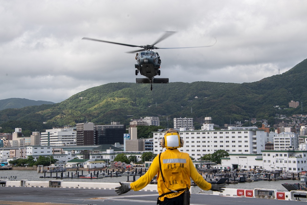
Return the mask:
[[[85,121],[128,125],[131,119],[159,116],[160,125],[169,124],[171,128],[174,117],[193,117],[195,127],[206,116],[219,125],[253,117],[268,119],[276,114],[302,114],[301,106],[289,108],[288,103],[293,100],[307,105],[306,82],[307,59],[283,74],[253,83],[174,82],[153,84],[152,91],[150,84],[109,83],[77,93],[61,103],[2,110],[0,124],[29,120],[47,122],[49,126]],[[282,109],[274,108],[275,105]]]

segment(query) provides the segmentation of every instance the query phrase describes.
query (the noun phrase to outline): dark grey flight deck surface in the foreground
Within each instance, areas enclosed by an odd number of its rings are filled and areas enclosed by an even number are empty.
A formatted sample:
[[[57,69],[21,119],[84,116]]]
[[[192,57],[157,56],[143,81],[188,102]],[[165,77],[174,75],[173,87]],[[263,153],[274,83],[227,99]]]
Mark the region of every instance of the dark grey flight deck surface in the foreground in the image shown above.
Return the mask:
[[[143,205],[157,204],[157,192],[129,191],[117,195],[114,190],[39,188],[39,187],[0,187],[0,204],[14,205],[60,205],[60,204],[103,204],[103,205]],[[255,199],[248,197],[227,197],[207,194],[191,194],[191,205],[300,205],[306,201],[276,199]]]

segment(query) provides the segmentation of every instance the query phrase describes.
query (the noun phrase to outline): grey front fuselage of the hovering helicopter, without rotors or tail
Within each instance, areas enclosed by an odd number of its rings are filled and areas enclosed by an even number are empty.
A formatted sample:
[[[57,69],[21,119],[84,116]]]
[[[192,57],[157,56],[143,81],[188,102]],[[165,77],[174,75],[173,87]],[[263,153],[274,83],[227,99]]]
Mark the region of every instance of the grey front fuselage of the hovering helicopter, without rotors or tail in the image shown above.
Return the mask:
[[[137,53],[136,61],[136,75],[140,73],[149,79],[155,77],[156,75],[160,75],[161,60],[158,53],[153,51],[141,51]]]

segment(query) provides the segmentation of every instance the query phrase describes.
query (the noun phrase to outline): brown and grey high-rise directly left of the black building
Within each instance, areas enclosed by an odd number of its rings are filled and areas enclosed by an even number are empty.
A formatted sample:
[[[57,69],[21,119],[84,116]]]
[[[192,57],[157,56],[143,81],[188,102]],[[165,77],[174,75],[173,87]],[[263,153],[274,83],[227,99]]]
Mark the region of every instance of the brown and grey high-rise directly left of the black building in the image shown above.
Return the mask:
[[[96,144],[94,123],[89,122],[76,124],[76,144],[77,146]]]

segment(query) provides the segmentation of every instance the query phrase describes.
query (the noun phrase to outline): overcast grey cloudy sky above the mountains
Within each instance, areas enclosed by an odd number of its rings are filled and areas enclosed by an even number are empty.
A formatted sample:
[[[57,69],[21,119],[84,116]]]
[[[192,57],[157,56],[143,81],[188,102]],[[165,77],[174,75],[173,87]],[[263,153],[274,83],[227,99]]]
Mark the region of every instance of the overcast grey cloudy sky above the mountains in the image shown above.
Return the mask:
[[[135,48],[155,42],[169,82],[255,82],[307,57],[307,1],[0,0],[0,99],[61,102],[110,82],[135,83]],[[138,77],[141,77],[138,75]],[[165,85],[167,86],[167,85]],[[200,88],[201,89],[201,88]]]

